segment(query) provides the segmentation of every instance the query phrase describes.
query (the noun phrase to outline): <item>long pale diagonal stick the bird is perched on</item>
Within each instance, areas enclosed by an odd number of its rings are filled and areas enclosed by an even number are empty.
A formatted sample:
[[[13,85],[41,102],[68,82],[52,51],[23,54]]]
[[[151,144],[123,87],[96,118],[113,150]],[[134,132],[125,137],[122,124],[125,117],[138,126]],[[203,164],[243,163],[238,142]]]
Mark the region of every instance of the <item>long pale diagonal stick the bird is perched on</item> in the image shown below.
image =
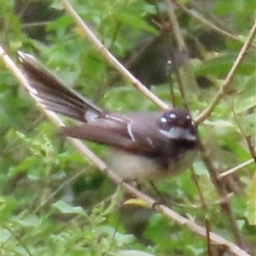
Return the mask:
[[[10,72],[13,73],[13,75],[20,82],[20,84],[22,84],[26,88],[26,90],[30,90],[29,85],[27,84],[26,78],[24,77],[23,73],[20,72],[19,67],[17,67],[15,65],[15,62],[12,61],[9,55],[6,54],[6,52],[3,50],[1,45],[0,45],[0,56],[3,59],[3,62],[9,68]],[[37,99],[35,97],[33,97],[33,99],[37,102]],[[51,119],[56,125],[58,126],[64,125],[61,119],[56,114],[45,110],[39,102],[37,102],[37,104],[44,111],[44,113],[46,113],[49,116],[49,119]],[[121,186],[123,186],[125,190],[129,192],[131,195],[134,195],[138,199],[145,201],[148,206],[154,207],[155,211],[160,212],[161,214],[165,215],[167,218],[170,218],[176,221],[177,224],[187,227],[189,230],[191,230],[195,234],[203,237],[207,236],[206,229],[190,221],[188,218],[183,218],[183,216],[179,215],[177,212],[172,211],[172,209],[170,209],[169,207],[166,207],[164,205],[158,205],[154,200],[154,198],[144,194],[142,191],[133,187],[131,184],[124,183],[114,172],[108,169],[108,166],[105,164],[104,161],[102,161],[96,154],[91,152],[90,149],[87,148],[84,145],[84,143],[82,143],[79,139],[75,139],[75,138],[68,138],[68,139],[79,150],[79,152],[84,155],[84,157],[90,160],[90,162],[94,166],[97,166],[98,169],[101,172],[105,173],[114,183],[121,184]],[[233,253],[236,256],[250,256],[240,247],[237,247],[236,244],[225,240],[221,236],[218,236],[212,232],[210,232],[208,236],[212,244],[223,245],[224,247],[227,248],[228,251],[230,251],[230,253]]]

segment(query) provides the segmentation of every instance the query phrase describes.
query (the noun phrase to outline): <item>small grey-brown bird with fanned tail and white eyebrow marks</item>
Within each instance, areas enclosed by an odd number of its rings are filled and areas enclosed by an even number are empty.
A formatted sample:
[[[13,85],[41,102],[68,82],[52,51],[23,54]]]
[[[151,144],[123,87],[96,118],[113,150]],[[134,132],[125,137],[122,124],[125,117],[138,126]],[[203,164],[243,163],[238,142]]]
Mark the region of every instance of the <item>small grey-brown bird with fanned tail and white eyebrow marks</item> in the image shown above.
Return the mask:
[[[197,155],[198,131],[186,109],[110,112],[69,89],[33,55],[18,52],[29,92],[45,109],[79,124],[61,135],[107,146],[107,164],[124,181],[154,181],[183,172]]]

